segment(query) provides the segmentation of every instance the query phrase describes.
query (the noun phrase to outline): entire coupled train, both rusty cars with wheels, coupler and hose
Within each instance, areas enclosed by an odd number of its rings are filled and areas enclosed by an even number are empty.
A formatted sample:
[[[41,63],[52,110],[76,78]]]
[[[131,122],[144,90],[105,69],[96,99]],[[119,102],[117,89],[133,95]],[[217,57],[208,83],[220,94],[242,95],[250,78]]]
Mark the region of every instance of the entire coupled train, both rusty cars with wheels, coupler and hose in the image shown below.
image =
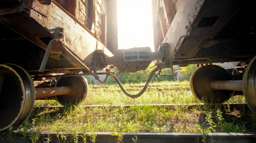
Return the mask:
[[[151,51],[118,49],[116,0],[0,0],[0,131],[22,125],[36,99],[62,105],[83,101],[88,92],[84,75],[102,83],[112,76],[125,95],[137,98],[152,76],[166,76],[161,69],[173,71],[173,65],[198,64],[190,89],[199,101],[221,104],[242,94],[256,114],[255,3],[152,0]],[[111,71],[145,70],[152,61],[157,61],[154,70],[134,95]],[[239,62],[240,68],[224,69],[216,62]]]

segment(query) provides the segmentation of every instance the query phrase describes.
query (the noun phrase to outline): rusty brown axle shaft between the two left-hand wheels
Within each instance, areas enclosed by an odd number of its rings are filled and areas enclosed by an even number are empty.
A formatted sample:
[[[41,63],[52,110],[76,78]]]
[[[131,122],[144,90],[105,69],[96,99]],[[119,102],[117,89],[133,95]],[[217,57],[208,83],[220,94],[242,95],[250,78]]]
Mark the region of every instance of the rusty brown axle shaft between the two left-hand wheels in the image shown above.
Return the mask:
[[[50,88],[35,88],[35,98],[44,98],[56,95],[65,95],[72,92],[71,87],[50,87]]]

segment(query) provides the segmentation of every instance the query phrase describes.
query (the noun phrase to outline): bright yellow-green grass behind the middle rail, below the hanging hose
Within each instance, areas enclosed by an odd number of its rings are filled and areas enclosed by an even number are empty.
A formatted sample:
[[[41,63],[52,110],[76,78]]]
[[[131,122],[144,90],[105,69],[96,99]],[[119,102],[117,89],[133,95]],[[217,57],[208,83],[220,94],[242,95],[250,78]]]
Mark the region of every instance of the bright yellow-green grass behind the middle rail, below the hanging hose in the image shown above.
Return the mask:
[[[149,85],[159,85],[160,87],[173,87],[173,85],[180,87],[188,87],[188,81],[166,81],[166,82],[155,82]],[[125,89],[129,89],[131,86],[138,86],[143,84],[125,84]],[[108,87],[108,90],[105,90]],[[128,93],[138,93],[141,88],[137,88],[133,91],[128,91]],[[234,96],[230,98],[227,103],[238,103],[245,102],[244,96]],[[89,84],[89,92],[87,98],[81,105],[130,105],[130,104],[191,104],[200,103],[190,90],[175,90],[166,89],[162,91],[147,89],[143,95],[139,98],[129,98],[116,85],[106,86],[106,84]],[[35,105],[44,106],[60,106],[58,101],[55,100],[37,100]]]

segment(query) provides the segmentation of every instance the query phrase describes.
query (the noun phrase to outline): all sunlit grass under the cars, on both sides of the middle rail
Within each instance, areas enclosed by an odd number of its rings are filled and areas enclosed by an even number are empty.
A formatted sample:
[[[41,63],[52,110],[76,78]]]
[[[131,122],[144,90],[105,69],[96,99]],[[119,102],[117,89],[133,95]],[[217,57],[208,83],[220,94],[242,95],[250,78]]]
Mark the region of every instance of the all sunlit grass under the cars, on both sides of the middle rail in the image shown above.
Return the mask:
[[[155,84],[155,83],[153,83]],[[185,82],[161,82],[155,85],[172,86]],[[136,84],[142,85],[142,84]],[[78,106],[35,108],[20,131],[44,132],[256,132],[256,116],[250,109],[220,109],[204,105],[188,110],[185,105],[175,107],[136,106],[138,104],[191,104],[200,103],[189,90],[146,90],[132,99],[119,92],[117,87],[90,85],[86,100]],[[94,86],[94,87],[92,87]],[[126,87],[131,85],[126,84]],[[134,84],[132,85],[134,86]],[[95,87],[97,90],[94,90]],[[131,91],[137,93],[139,90]],[[245,102],[243,96],[234,96],[227,103]],[[80,105],[128,105],[130,108],[94,107]],[[55,100],[36,101],[35,105],[60,105]],[[37,135],[35,134],[36,138]]]

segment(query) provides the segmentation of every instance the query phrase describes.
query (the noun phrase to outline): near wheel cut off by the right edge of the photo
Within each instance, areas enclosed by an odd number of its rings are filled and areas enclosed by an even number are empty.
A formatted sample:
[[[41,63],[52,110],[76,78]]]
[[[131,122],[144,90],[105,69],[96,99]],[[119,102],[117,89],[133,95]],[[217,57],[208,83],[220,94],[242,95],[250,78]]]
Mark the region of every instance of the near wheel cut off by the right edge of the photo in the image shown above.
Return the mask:
[[[256,56],[244,71],[243,92],[250,110],[256,115]]]

